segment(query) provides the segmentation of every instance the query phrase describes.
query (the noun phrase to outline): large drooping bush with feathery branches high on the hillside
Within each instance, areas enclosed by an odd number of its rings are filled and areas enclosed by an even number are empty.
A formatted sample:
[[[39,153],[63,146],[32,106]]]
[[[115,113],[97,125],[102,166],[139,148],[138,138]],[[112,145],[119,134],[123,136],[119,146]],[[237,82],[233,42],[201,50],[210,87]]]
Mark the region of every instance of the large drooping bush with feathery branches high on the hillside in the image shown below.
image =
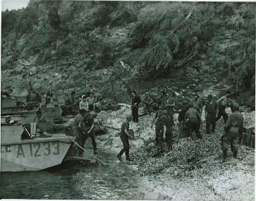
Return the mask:
[[[142,76],[180,68],[196,59],[198,41],[210,40],[209,30],[214,23],[211,4],[168,2],[142,9],[129,43],[133,49],[146,47],[137,61]]]

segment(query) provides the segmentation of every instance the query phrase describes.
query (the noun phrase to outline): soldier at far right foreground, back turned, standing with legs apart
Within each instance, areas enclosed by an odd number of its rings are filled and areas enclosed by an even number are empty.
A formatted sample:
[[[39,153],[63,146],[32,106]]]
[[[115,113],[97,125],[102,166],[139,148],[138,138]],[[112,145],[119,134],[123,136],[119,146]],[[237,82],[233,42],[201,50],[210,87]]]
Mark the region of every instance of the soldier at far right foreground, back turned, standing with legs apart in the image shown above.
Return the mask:
[[[237,157],[238,152],[238,137],[242,132],[244,117],[239,113],[239,105],[234,104],[234,113],[230,114],[228,121],[224,126],[224,135],[221,137],[221,149],[223,151],[223,162],[227,159],[228,156],[228,146],[231,146],[231,151],[233,156]]]

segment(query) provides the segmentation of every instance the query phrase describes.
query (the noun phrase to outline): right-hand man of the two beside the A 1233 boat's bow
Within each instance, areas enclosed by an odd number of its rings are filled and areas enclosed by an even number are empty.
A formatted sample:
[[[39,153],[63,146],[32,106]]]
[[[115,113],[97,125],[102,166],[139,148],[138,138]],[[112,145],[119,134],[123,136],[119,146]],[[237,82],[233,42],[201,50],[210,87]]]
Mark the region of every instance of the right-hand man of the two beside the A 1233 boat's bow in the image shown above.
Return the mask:
[[[94,154],[97,154],[97,144],[95,138],[95,131],[94,131],[94,117],[88,111],[85,112],[85,116],[83,118],[84,128],[83,131],[85,135],[82,137],[82,145],[84,146],[85,141],[88,137],[92,140],[92,146],[94,147]]]

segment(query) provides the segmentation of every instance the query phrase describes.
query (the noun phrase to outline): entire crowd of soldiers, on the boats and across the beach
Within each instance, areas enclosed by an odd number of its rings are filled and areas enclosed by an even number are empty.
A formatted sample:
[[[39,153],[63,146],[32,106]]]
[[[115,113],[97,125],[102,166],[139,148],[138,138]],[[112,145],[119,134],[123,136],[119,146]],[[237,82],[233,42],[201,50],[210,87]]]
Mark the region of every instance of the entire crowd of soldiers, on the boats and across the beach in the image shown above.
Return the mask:
[[[8,92],[2,92],[8,95]],[[94,117],[96,116],[95,105],[96,105],[96,88],[90,86],[89,91],[86,95],[83,95],[79,101],[76,101],[76,91],[72,91],[70,96],[65,101],[64,111],[65,114],[72,113],[72,111],[77,111],[77,106],[79,106],[79,113],[76,112],[76,117],[74,119],[74,135],[77,137],[78,145],[78,155],[83,154],[83,146],[87,137],[92,139],[92,144],[94,147],[94,154],[97,153],[96,150],[96,140],[94,132]],[[160,148],[160,152],[164,152],[164,136],[165,142],[167,143],[167,151],[173,149],[173,113],[175,104],[173,104],[173,97],[177,96],[173,90],[164,87],[161,91],[162,95],[160,102],[155,104],[153,99],[149,97],[148,93],[143,99],[137,95],[137,93],[132,91],[132,102],[131,102],[131,115],[126,117],[126,121],[121,125],[121,142],[123,143],[123,149],[117,155],[118,159],[121,161],[121,155],[126,153],[126,160],[130,161],[129,155],[129,139],[133,139],[133,135],[129,132],[129,122],[139,122],[139,104],[144,104],[144,108],[148,115],[155,110],[155,115],[153,121],[151,122],[151,128],[155,124],[155,143]],[[28,94],[28,98],[30,94]],[[46,94],[46,104],[50,102],[53,97],[51,90]],[[225,108],[230,106],[232,114],[228,115],[225,112]],[[63,108],[62,108],[63,109]],[[203,102],[200,96],[197,94],[193,100],[182,104],[182,108],[179,108],[178,114],[178,135],[179,137],[192,137],[192,133],[196,134],[198,139],[202,139],[202,134],[200,133],[200,125],[202,125],[201,115],[203,113]],[[233,156],[237,157],[238,152],[238,139],[241,138],[241,132],[243,129],[244,118],[241,113],[239,113],[239,104],[230,99],[230,91],[227,91],[223,97],[214,100],[212,95],[208,95],[207,101],[205,103],[205,120],[206,120],[206,134],[214,133],[216,128],[216,122],[223,117],[225,123],[223,136],[221,137],[221,149],[223,151],[223,160],[227,158],[228,147],[231,146]],[[40,111],[37,111],[36,117],[38,122],[42,122],[43,117]]]

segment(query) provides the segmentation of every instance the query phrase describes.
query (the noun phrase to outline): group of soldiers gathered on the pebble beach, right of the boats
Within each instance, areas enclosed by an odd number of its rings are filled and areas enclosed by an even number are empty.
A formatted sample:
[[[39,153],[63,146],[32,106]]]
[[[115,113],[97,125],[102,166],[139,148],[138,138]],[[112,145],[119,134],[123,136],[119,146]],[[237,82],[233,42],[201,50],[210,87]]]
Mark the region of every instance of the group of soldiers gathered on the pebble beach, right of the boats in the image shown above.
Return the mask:
[[[168,95],[167,95],[168,97]],[[126,117],[126,121],[123,122],[121,126],[121,141],[123,142],[123,149],[121,149],[118,159],[121,161],[121,155],[126,152],[126,160],[130,161],[129,156],[129,142],[128,140],[132,138],[129,130],[129,122],[138,122],[138,107],[139,103],[143,102],[146,104],[146,110],[149,115],[151,115],[151,106],[153,100],[145,95],[145,98],[141,100],[137,96],[136,92],[133,91],[132,99],[132,116]],[[164,152],[164,136],[165,142],[167,144],[167,151],[172,150],[173,144],[173,113],[175,104],[170,103],[168,100],[161,101],[158,110],[153,117],[151,122],[151,128],[155,124],[155,143],[160,148],[160,152]],[[230,106],[232,114],[228,115],[225,112],[225,108]],[[201,115],[203,113],[203,102],[199,95],[187,102],[183,108],[180,108],[178,115],[179,121],[179,135],[183,137],[192,137],[192,133],[196,134],[198,139],[202,139],[202,134],[200,133],[200,125],[202,125]],[[221,149],[223,151],[223,162],[228,156],[228,147],[231,147],[233,157],[237,157],[238,152],[238,139],[241,136],[241,132],[244,124],[244,117],[239,112],[239,104],[230,99],[230,91],[227,91],[223,97],[218,100],[214,100],[212,95],[208,95],[207,102],[205,103],[205,120],[206,120],[206,134],[214,133],[216,128],[216,122],[223,117],[225,123],[223,128],[223,135],[221,137]]]

